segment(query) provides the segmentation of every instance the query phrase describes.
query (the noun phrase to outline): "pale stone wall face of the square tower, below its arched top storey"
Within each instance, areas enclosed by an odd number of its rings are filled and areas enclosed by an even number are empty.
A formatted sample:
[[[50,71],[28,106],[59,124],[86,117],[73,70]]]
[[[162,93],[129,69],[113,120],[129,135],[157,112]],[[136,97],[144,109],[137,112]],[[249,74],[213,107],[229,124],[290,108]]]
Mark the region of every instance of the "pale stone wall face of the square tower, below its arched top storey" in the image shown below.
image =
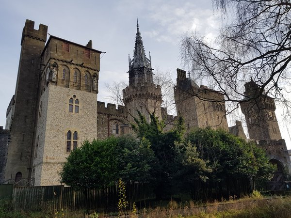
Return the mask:
[[[79,113],[69,112],[70,98],[79,100]],[[97,138],[97,94],[49,85],[41,99],[47,100],[47,105],[43,105],[47,113],[43,114],[44,122],[39,122],[37,128],[36,137],[41,133],[44,137],[39,135],[39,159],[34,163],[41,166],[35,168],[35,178],[41,174],[41,179],[35,181],[35,185],[58,185],[60,166],[70,154],[66,151],[67,132],[70,130],[72,135],[78,132],[78,147],[84,140]]]

